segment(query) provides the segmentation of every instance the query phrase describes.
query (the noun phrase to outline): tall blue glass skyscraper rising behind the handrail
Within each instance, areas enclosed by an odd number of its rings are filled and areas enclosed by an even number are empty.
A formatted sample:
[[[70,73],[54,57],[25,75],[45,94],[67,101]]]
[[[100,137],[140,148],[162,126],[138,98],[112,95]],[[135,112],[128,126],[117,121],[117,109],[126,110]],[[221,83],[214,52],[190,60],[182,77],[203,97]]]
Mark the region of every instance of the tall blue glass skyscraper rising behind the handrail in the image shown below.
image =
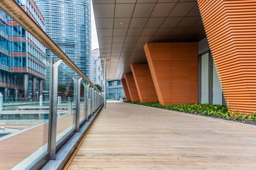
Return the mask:
[[[81,71],[90,77],[90,0],[35,0],[45,18],[45,31]],[[54,57],[50,50],[46,55]]]

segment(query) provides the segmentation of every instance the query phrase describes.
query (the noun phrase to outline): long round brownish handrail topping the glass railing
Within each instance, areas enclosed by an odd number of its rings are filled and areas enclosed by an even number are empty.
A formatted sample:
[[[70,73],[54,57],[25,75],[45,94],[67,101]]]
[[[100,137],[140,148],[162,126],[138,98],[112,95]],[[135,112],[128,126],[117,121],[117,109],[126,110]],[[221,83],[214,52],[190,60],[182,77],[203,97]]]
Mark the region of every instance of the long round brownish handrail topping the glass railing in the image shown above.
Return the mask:
[[[70,58],[65,55],[65,53],[60,50],[60,47],[50,39],[50,37],[42,30],[38,24],[33,21],[33,19],[28,16],[26,11],[19,6],[14,0],[1,0],[0,1],[0,9],[4,11],[8,16],[14,19],[16,23],[22,26],[25,30],[28,31],[34,38],[40,41],[43,45],[45,45],[53,54],[63,60],[65,64],[67,64],[71,69],[73,69],[76,73],[80,75],[83,79],[85,79],[91,86],[93,86],[97,91],[100,92],[97,87],[92,84],[92,81],[88,79],[85,74],[70,60]],[[100,92],[100,94],[102,94]]]

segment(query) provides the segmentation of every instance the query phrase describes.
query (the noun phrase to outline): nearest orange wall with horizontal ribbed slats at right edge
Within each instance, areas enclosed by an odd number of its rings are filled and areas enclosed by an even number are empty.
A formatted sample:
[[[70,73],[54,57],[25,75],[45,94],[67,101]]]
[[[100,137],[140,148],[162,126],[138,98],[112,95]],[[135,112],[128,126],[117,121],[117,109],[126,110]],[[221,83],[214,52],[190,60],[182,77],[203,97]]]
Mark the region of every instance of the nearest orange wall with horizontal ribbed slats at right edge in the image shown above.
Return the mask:
[[[198,0],[230,111],[256,111],[256,1]]]

